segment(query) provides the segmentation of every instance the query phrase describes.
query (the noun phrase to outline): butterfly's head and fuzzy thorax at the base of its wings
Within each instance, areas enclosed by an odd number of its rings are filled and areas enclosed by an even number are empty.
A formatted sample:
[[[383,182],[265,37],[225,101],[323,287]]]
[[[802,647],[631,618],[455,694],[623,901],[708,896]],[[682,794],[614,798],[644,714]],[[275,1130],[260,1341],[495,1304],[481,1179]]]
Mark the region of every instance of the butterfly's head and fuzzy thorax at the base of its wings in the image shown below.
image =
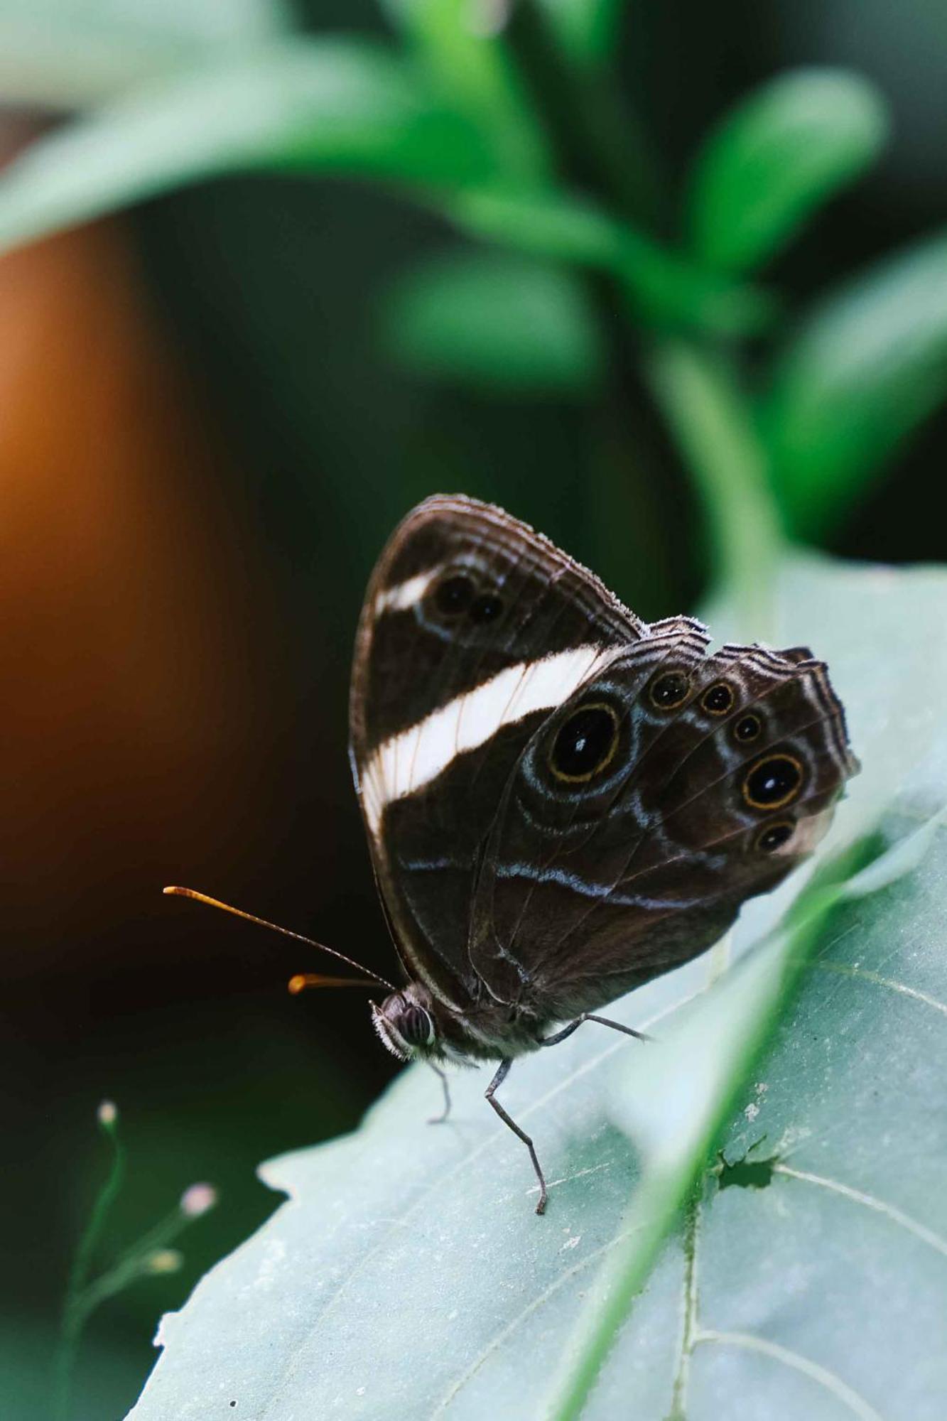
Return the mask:
[[[438,1000],[421,982],[408,982],[381,1006],[373,1022],[388,1050],[400,1060],[499,1060],[522,1056],[542,1044],[542,1023],[502,1002],[481,1002],[461,1013]]]

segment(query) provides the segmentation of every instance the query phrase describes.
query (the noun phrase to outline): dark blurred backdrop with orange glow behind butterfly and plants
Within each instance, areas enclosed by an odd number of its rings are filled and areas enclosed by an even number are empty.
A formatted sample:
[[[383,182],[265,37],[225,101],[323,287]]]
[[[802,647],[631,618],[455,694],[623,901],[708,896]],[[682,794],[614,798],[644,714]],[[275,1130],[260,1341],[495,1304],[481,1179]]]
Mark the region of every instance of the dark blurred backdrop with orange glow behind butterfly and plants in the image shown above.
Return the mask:
[[[708,124],[786,67],[850,65],[887,95],[887,156],[766,271],[789,306],[944,222],[943,6],[631,9],[623,84],[668,190]],[[311,0],[307,18],[384,28],[361,0]],[[7,149],[46,121],[7,111]],[[634,379],[616,429],[604,391],[476,394],[384,355],[390,280],[458,242],[378,188],[247,176],[0,263],[0,1255],[24,1415],[105,1165],[100,1100],[118,1103],[129,1152],[115,1246],[191,1182],[222,1191],[185,1269],[95,1319],[77,1414],[107,1417],[137,1394],[159,1313],[276,1205],[255,1165],[353,1128],[391,1076],[363,993],[287,996],[314,956],[161,887],[392,972],[346,722],[361,591],[395,520],[465,490],[553,536],[646,617],[700,601],[698,513]],[[619,513],[589,475],[603,439],[627,473]],[[940,415],[830,550],[943,557],[946,452]]]

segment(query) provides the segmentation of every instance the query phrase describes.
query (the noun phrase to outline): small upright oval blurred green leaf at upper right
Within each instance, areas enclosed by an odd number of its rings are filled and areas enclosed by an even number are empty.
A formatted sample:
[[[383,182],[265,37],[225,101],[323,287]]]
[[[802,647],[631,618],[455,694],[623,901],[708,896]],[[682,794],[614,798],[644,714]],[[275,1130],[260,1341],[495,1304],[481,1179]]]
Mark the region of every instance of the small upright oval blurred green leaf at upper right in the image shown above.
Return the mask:
[[[766,261],[815,209],[874,161],[887,108],[845,70],[798,70],[756,90],[694,163],[687,217],[695,254],[741,271]]]

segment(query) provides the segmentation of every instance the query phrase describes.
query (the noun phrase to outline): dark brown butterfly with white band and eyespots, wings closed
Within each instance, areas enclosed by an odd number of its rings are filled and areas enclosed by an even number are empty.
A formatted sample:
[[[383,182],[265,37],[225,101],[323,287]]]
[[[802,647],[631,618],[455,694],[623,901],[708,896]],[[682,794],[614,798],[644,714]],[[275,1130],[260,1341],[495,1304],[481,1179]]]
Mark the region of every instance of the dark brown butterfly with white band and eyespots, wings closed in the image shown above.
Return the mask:
[[[708,641],[459,495],[408,513],[368,583],[350,757],[407,985],[361,980],[390,989],[382,1043],[441,1074],[441,1067],[499,1061],[485,1096],[529,1150],[537,1214],[533,1141],[496,1098],[512,1061],[584,1022],[640,1036],[599,1009],[782,882],[859,767],[812,652]]]

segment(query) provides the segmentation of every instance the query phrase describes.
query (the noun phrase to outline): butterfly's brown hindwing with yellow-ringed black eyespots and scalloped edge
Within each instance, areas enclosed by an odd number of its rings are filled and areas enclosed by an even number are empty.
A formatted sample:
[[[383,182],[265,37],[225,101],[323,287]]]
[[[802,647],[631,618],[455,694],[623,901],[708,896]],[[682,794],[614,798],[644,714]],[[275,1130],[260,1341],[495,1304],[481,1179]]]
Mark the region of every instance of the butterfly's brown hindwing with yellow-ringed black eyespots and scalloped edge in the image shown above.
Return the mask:
[[[643,638],[535,732],[493,826],[471,955],[493,995],[550,1019],[710,946],[812,851],[856,769],[820,662],[707,657],[694,628],[661,635],[674,625],[650,630],[660,657]],[[601,764],[577,779],[570,728],[593,712]]]

